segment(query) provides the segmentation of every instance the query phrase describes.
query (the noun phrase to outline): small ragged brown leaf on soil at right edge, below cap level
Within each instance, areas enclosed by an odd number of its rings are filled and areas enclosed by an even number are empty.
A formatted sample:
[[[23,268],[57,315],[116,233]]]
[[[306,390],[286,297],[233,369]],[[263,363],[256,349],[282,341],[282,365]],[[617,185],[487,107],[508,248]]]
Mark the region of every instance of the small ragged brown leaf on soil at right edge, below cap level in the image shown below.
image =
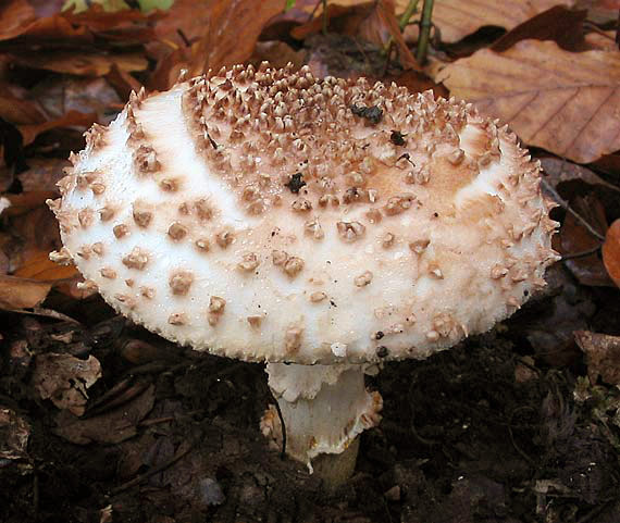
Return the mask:
[[[620,385],[620,336],[575,331],[574,338],[587,357],[590,383],[600,376],[605,383]]]

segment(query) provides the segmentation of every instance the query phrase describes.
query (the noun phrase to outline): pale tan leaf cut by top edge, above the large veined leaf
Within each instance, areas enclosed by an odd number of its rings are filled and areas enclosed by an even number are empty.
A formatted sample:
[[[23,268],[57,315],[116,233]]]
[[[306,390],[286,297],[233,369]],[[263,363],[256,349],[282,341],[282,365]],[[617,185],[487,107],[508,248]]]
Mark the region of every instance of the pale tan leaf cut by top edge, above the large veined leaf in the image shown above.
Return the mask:
[[[397,12],[405,11],[408,0],[398,0]],[[570,8],[573,0],[435,0],[433,8],[433,24],[442,34],[442,41],[451,43],[475,33],[484,26],[493,25],[512,29],[526,20],[546,11],[554,5]],[[420,15],[412,17],[419,20]],[[418,40],[418,28],[409,26],[405,30],[405,39]]]

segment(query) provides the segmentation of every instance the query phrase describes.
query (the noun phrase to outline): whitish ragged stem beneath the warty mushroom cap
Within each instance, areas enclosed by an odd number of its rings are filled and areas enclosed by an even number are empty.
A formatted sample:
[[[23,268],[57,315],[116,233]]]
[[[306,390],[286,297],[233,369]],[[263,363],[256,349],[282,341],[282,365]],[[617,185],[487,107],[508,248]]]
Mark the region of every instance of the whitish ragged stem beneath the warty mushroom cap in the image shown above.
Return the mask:
[[[368,366],[266,365],[269,386],[286,427],[286,453],[306,463],[311,473],[312,460],[320,454],[340,454],[360,433],[380,422],[381,395],[364,387]],[[275,408],[265,412],[261,427],[265,436],[282,445]],[[349,461],[355,466],[355,456]]]

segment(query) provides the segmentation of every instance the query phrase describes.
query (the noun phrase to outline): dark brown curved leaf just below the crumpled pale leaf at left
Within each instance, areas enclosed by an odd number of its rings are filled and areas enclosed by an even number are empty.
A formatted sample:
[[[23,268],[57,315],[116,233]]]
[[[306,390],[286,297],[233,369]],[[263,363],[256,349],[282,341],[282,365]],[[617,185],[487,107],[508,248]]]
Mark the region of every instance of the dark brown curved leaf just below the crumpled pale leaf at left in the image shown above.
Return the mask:
[[[69,411],[57,416],[54,434],[77,445],[89,443],[117,444],[135,436],[138,423],[154,404],[154,385],[150,385],[132,401],[103,414],[79,419]]]

